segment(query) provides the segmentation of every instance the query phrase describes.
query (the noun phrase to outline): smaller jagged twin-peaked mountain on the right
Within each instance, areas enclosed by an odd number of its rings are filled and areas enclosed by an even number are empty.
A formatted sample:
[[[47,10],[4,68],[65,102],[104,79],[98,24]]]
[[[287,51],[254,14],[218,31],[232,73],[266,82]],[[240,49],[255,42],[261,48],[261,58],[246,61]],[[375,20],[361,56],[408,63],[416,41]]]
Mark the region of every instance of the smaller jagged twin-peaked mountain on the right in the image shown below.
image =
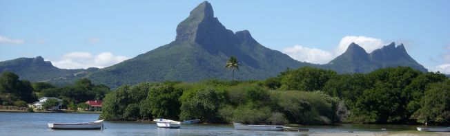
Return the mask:
[[[375,49],[370,54],[367,54],[366,50],[359,45],[351,43],[344,54],[322,67],[338,73],[369,73],[384,67],[398,66],[408,66],[422,72],[428,71],[409,56],[403,44],[395,47],[395,43]]]

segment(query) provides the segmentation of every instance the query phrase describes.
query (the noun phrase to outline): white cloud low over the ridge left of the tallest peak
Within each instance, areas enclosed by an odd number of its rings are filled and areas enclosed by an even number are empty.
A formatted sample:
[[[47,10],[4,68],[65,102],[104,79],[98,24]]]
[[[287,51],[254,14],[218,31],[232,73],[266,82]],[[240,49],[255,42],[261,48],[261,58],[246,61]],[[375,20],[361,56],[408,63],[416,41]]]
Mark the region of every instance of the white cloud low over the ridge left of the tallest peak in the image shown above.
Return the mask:
[[[128,60],[126,56],[115,56],[110,52],[93,55],[90,52],[70,52],[52,64],[61,69],[87,69],[89,67],[108,67]]]

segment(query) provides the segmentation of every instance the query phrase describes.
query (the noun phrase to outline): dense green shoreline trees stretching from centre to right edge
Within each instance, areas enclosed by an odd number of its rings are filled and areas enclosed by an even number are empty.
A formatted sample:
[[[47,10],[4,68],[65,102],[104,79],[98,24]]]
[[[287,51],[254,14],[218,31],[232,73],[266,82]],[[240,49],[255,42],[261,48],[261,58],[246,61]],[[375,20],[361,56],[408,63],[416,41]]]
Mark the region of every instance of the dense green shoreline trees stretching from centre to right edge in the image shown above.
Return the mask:
[[[301,67],[256,81],[144,82],[106,95],[106,120],[248,124],[449,124],[450,81],[410,67],[344,73]]]

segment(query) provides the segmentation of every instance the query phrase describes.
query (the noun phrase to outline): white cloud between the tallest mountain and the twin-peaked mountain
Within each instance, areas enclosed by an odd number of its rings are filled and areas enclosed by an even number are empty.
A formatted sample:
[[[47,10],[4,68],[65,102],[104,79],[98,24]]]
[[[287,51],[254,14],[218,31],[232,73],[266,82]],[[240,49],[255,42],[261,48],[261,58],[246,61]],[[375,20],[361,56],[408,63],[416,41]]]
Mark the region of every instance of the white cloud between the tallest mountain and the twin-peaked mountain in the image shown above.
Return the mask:
[[[333,54],[321,49],[303,47],[295,45],[283,49],[284,54],[291,56],[295,60],[305,61],[308,63],[325,64],[333,59]]]

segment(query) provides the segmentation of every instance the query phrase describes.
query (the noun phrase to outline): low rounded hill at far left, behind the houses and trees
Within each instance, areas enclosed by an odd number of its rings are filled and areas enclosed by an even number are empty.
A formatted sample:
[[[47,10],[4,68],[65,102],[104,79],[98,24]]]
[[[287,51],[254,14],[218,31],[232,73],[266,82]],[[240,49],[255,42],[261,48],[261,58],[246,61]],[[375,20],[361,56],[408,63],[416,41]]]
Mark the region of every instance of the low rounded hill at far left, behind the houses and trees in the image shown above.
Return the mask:
[[[86,75],[84,73],[97,70],[97,68],[59,69],[53,66],[50,61],[44,61],[41,56],[37,56],[36,58],[17,58],[0,62],[0,73],[12,71],[19,75],[21,79],[32,82],[81,77]]]

